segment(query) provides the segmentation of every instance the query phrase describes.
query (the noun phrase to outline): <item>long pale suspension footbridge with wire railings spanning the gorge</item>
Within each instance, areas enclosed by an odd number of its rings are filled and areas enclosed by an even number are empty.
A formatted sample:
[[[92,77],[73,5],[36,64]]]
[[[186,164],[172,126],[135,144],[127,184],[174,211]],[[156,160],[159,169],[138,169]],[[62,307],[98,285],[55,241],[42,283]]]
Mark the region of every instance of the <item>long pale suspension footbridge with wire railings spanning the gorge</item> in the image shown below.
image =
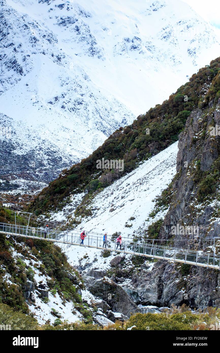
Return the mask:
[[[115,251],[118,253],[131,254],[135,256],[143,256],[153,259],[162,259],[166,261],[179,262],[183,264],[201,266],[220,270],[220,256],[215,254],[213,246],[208,247],[207,252],[202,250],[189,250],[170,245],[162,246],[157,240],[150,240],[147,243],[133,242],[129,238],[122,238],[121,250],[117,249],[116,239],[107,239],[106,247],[103,247],[103,234],[87,232],[84,244],[81,245],[80,230],[58,231],[50,229],[44,238],[44,230],[22,225],[14,225],[8,223],[0,223],[0,234],[12,235],[14,237],[31,238],[37,240],[50,241],[52,243],[64,243],[69,245],[77,245],[91,247],[95,249]],[[110,238],[111,236],[108,236]],[[207,239],[205,239],[207,241]],[[210,239],[209,239],[210,240]],[[179,240],[181,241],[181,240]],[[163,242],[165,242],[163,240]],[[168,241],[167,241],[168,242]]]

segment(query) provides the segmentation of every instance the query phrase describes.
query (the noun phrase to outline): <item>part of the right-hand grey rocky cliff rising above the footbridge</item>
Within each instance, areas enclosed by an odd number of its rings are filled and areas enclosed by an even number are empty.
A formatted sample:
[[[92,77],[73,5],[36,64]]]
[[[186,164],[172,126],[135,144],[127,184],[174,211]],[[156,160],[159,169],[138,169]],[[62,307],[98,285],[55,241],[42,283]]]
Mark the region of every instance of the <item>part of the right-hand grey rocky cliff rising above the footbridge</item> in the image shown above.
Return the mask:
[[[179,137],[177,175],[173,182],[175,196],[162,227],[161,238],[169,237],[170,225],[198,225],[199,237],[217,237],[218,162],[220,136],[212,136],[212,128],[220,125],[219,103],[213,101],[205,111],[197,109],[189,116]],[[213,178],[213,179],[212,179]],[[203,187],[203,184],[206,184]],[[210,190],[208,190],[210,187]],[[213,223],[210,228],[210,222]]]

